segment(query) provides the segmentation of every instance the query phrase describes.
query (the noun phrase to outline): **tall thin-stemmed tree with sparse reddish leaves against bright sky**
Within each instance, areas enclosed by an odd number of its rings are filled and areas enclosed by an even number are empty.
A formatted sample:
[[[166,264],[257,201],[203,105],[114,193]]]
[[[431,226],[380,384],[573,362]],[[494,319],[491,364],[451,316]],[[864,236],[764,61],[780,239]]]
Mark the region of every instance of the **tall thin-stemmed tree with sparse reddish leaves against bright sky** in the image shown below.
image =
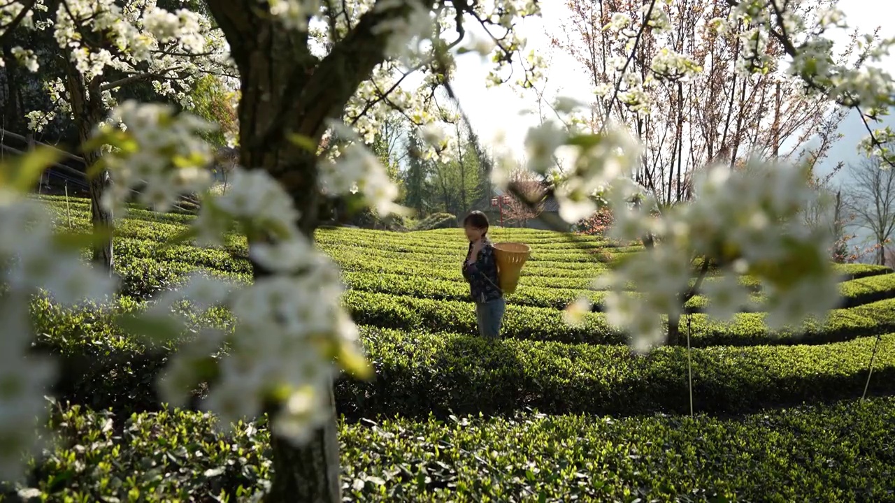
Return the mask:
[[[758,154],[816,164],[835,139],[844,112],[831,111],[829,98],[806,92],[802,81],[778,68],[744,72],[749,49],[744,36],[754,26],[716,30],[713,22],[729,15],[729,3],[566,4],[567,21],[552,44],[575,57],[597,93],[591,127],[596,131],[616,121],[642,142],[635,180],[661,204],[689,199],[691,176],[712,162],[735,166],[737,159]],[[807,15],[821,4],[813,0],[797,9]],[[649,23],[643,22],[642,11],[648,11]],[[634,38],[637,50],[628,57],[626,43]],[[853,37],[840,61],[855,47]],[[774,62],[785,55],[775,38],[765,52]],[[819,144],[809,143],[816,138]]]

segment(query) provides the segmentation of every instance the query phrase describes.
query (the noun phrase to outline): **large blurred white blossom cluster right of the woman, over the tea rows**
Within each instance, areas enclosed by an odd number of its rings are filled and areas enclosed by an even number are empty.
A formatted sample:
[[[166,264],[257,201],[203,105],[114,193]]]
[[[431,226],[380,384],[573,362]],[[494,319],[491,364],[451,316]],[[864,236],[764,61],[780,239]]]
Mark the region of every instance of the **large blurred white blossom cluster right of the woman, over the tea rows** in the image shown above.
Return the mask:
[[[682,314],[683,297],[699,276],[695,269],[703,267],[699,261],[707,261],[704,266],[720,277],[704,282],[699,293],[710,299],[707,314],[722,322],[750,304],[749,291],[738,280],[744,274],[762,282],[772,329],[823,318],[839,302],[828,252],[832,235],[797,217],[816,197],[804,173],[793,166],[750,163],[745,171],[710,166],[696,182],[696,199],[659,217],[650,215],[652,206],[645,202],[613,205],[611,237],[651,236],[656,242],[599,281],[610,291],[609,322],[630,329],[637,345],[661,341],[661,314]],[[636,295],[626,292],[632,282]]]

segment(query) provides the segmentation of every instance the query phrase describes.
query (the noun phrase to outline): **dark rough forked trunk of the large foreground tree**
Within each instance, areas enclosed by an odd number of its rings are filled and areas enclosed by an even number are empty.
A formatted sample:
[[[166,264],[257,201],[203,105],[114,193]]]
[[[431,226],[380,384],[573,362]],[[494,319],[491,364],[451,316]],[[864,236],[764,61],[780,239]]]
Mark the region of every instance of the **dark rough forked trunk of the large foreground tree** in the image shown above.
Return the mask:
[[[241,76],[240,163],[248,169],[264,169],[282,183],[301,212],[299,228],[311,238],[321,200],[317,158],[290,141],[289,134],[320,144],[326,120],[342,116],[348,99],[385,59],[387,35],[374,35],[371,29],[383,19],[404,16],[407,9],[400,5],[365,13],[320,59],[311,54],[307,33],[288,30],[260,13],[256,0],[209,0],[209,11],[230,43]],[[253,268],[255,277],[268,275],[258,264]],[[330,398],[331,393],[330,389]],[[276,437],[271,440],[274,475],[268,502],[341,501],[331,399],[330,407],[331,419],[305,446],[296,448]]]

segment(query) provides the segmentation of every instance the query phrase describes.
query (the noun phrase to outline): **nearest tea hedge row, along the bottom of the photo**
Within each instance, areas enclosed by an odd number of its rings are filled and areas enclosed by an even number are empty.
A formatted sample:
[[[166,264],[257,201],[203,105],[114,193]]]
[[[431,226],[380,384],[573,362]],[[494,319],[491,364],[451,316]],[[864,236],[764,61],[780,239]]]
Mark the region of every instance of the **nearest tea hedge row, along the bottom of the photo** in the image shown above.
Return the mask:
[[[895,400],[737,420],[520,415],[340,426],[353,501],[889,501]],[[62,408],[58,445],[21,496],[52,501],[243,501],[270,477],[263,422]],[[27,488],[27,489],[26,489]]]

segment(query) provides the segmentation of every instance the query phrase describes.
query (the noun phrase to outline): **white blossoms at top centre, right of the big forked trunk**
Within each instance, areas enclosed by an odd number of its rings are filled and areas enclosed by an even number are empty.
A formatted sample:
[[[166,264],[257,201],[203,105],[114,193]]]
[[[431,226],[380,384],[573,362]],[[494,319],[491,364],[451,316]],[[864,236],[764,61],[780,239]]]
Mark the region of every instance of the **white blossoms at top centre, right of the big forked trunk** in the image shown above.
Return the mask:
[[[301,3],[301,0],[293,0]],[[456,20],[462,19],[456,5],[444,3],[431,9],[430,2],[422,0],[378,0],[356,2],[347,15],[329,15],[326,8],[320,16],[328,18],[329,26],[337,30],[317,30],[320,47],[327,47],[342,33],[343,23],[354,25],[362,13],[368,10],[386,18],[374,29],[374,33],[388,34],[387,61],[379,64],[371,78],[363,81],[345,107],[345,123],[352,124],[363,141],[371,143],[389,115],[396,110],[412,127],[432,132],[445,123],[455,123],[459,117],[439,105],[439,88],[446,76],[456,71],[456,55],[474,51],[482,58],[495,63],[490,81],[504,81],[499,74],[513,74],[509,61],[516,58],[527,62],[520,83],[538,78],[544,67],[542,58],[533,52],[524,52],[524,40],[514,31],[519,19],[540,14],[539,6],[531,0],[499,0],[474,3],[463,8],[472,9],[477,20],[486,27],[484,33],[468,31],[468,43],[455,46]],[[389,11],[401,15],[387,15]],[[309,11],[305,11],[306,13]],[[348,20],[348,21],[345,21]],[[467,21],[468,22],[468,21]],[[465,42],[465,39],[460,40]],[[407,77],[413,73],[413,80]],[[434,127],[433,127],[434,126]],[[456,138],[439,134],[438,139],[427,135],[422,146],[423,158],[447,160],[456,152]]]

